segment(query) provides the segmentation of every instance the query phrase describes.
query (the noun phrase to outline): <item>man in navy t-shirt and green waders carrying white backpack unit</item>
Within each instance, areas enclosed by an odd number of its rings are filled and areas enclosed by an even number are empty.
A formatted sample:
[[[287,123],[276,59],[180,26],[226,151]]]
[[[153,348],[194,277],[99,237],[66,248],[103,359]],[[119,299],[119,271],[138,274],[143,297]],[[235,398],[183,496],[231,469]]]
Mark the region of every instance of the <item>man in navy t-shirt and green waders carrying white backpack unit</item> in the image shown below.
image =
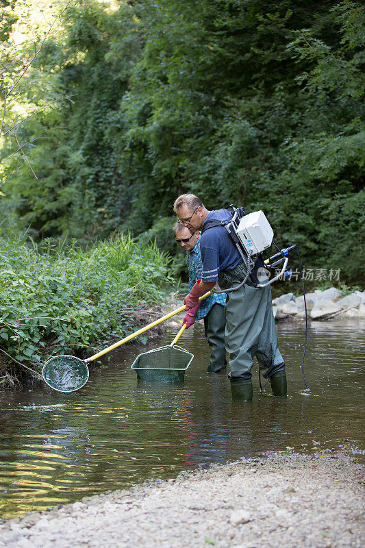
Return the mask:
[[[201,230],[203,271],[186,295],[188,313],[184,323],[190,327],[199,309],[199,297],[219,282],[222,289],[238,286],[246,275],[246,267],[234,242],[221,221],[229,221],[229,210],[208,211],[193,194],[183,194],[175,200],[174,211],[190,232]],[[255,267],[253,268],[255,272]],[[274,396],[286,397],[285,364],[277,347],[277,330],[271,301],[271,288],[256,288],[251,279],[241,288],[227,293],[225,347],[229,353],[228,375],[232,397],[252,400],[251,368],[256,356],[264,377],[270,381]]]

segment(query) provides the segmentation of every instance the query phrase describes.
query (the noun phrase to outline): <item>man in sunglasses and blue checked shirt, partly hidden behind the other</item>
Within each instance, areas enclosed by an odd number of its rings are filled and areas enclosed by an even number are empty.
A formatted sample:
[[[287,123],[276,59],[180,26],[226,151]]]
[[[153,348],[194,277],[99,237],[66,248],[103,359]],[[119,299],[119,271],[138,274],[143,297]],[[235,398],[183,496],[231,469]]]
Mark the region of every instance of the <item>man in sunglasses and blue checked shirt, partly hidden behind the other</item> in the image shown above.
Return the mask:
[[[200,232],[190,232],[186,226],[177,221],[173,227],[176,241],[186,251],[186,262],[189,271],[189,291],[198,279],[201,279]],[[218,373],[226,368],[225,359],[225,293],[212,295],[202,301],[194,320],[204,321],[205,336],[210,346],[210,364],[208,373]]]

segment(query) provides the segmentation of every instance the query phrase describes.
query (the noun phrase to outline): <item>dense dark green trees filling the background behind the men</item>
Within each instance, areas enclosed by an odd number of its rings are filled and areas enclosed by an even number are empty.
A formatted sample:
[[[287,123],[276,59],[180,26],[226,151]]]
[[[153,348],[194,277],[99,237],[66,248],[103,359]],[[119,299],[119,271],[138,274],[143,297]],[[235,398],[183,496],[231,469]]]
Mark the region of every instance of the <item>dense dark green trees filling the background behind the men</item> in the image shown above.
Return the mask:
[[[63,17],[27,79],[29,105],[58,94],[57,108],[18,128],[38,179],[18,155],[5,163],[4,229],[152,227],[168,249],[173,200],[192,191],[207,208],[262,208],[308,267],[360,279],[361,3],[81,0]]]

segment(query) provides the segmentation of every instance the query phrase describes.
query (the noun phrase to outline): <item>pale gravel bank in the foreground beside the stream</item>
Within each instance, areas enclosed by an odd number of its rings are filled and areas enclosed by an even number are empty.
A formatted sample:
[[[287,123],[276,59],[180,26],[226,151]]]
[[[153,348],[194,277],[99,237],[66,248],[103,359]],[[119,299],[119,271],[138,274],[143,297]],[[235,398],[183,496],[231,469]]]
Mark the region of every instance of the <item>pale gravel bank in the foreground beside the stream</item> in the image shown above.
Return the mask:
[[[360,548],[362,471],[331,451],[242,459],[6,521],[0,547]]]

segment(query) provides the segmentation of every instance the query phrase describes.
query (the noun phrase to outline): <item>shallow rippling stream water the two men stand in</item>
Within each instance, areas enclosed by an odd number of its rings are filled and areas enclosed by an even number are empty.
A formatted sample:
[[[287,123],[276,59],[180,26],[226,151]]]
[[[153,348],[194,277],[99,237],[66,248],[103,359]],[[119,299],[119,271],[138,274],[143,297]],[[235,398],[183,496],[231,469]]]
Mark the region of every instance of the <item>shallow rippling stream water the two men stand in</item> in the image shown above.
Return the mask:
[[[195,356],[182,384],[138,382],[130,365],[149,347],[129,346],[95,367],[78,392],[66,395],[43,385],[1,393],[0,516],[262,451],[311,451],[312,440],[321,447],[344,440],[363,447],[364,331],[356,321],[312,323],[305,362],[312,395],[305,395],[303,325],[279,325],[286,400],[270,397],[264,379],[260,395],[255,367],[253,403],[231,401],[227,374],[206,373],[200,325],[179,341]],[[166,334],[161,345],[170,340]]]

